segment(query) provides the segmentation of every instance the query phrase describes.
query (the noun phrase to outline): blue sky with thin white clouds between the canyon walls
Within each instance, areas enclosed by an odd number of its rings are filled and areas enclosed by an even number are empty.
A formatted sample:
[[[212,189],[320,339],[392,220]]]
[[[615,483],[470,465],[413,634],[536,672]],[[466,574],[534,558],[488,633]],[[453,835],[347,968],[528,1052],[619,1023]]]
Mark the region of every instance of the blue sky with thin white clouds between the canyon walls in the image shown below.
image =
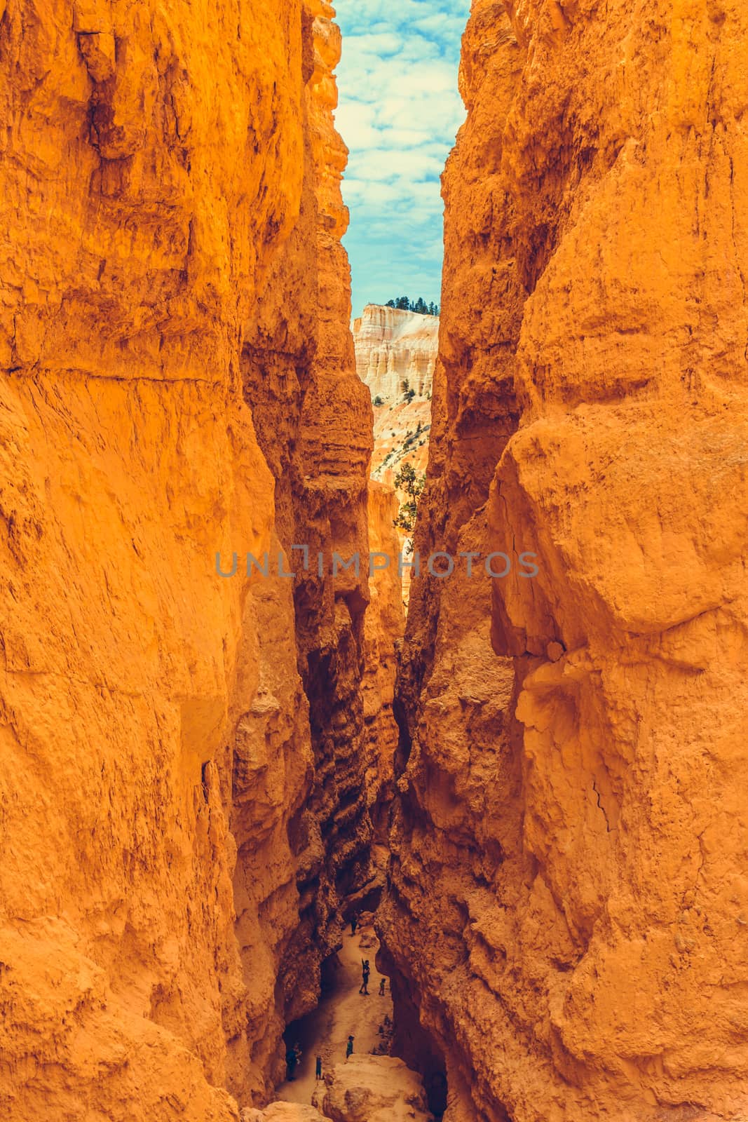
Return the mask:
[[[401,294],[438,303],[440,175],[464,120],[458,65],[470,0],[333,2],[353,315]]]

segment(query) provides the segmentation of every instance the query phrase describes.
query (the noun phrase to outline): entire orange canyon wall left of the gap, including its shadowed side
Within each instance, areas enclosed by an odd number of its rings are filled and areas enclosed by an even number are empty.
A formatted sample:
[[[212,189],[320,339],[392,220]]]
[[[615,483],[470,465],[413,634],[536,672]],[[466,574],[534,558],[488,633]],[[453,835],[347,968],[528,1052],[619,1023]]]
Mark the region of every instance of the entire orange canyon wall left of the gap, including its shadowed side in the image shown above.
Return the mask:
[[[371,875],[332,13],[0,3],[12,1122],[266,1101]]]

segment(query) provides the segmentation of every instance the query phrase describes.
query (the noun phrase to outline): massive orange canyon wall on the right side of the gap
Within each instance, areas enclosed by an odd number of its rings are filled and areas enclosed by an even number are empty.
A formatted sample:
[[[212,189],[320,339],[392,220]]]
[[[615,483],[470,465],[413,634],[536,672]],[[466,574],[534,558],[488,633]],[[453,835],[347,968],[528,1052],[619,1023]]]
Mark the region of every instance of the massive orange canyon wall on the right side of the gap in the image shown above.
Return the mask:
[[[416,545],[512,569],[413,585],[379,919],[450,1122],[748,1118],[747,39],[473,0]]]

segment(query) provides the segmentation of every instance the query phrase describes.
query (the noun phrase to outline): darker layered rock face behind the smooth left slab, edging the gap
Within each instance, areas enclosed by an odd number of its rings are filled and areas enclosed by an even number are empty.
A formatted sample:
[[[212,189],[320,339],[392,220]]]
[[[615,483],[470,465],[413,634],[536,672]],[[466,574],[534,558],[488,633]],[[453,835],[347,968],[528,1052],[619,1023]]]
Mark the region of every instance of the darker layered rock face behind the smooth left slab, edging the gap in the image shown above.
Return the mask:
[[[329,4],[314,0],[305,10],[313,19],[312,50],[304,61],[307,128],[301,217],[252,309],[241,353],[244,399],[275,478],[276,532],[289,568],[298,573],[293,598],[286,591],[289,581],[281,577],[261,589],[266,597],[276,589],[260,660],[266,688],[270,698],[287,693],[286,705],[279,707],[284,728],[273,734],[280,732],[287,758],[271,765],[267,779],[276,800],[274,834],[258,850],[253,812],[237,831],[240,856],[251,855],[237,866],[248,905],[248,929],[241,936],[246,969],[256,973],[258,949],[271,964],[256,1024],[255,1049],[260,1052],[268,1045],[261,1027],[273,1009],[274,991],[276,1000],[280,994],[278,1028],[314,1008],[320,966],[340,937],[342,899],[376,875],[369,810],[378,788],[367,781],[378,775],[378,764],[361,689],[369,601],[371,405],[355,375],[350,269],[340,243],[348,226],[340,193],[348,153],[332,122],[340,31],[330,21]],[[335,553],[344,561],[359,553],[359,571],[341,568],[333,581],[329,574]],[[283,635],[293,635],[294,628],[295,651],[292,643],[287,657],[280,657]],[[288,693],[294,680],[296,700]],[[295,723],[288,721],[298,714],[299,697],[302,706],[308,703],[301,755]],[[376,723],[377,716],[369,712],[368,719]],[[253,752],[249,745],[244,781],[250,803],[257,798],[258,774],[264,774]],[[274,743],[269,758],[277,760],[276,753]],[[265,765],[265,756],[261,762]],[[289,845],[293,876],[286,880],[275,866]],[[269,882],[259,873],[268,867]],[[280,1069],[275,1074],[279,1077]]]

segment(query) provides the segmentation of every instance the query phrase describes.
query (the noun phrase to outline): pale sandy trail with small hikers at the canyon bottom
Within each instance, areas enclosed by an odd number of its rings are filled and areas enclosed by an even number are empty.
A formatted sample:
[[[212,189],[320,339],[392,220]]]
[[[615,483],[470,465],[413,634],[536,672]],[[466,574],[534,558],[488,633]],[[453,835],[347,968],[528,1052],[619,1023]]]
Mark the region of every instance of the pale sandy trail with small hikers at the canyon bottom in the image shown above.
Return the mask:
[[[287,1103],[310,1104],[316,1086],[315,1058],[322,1056],[323,1075],[334,1064],[341,1064],[345,1059],[349,1033],[353,1033],[353,1050],[358,1054],[369,1054],[380,1043],[382,1038],[379,1027],[386,1015],[391,1020],[393,1002],[389,980],[386,996],[379,996],[379,980],[382,975],[375,966],[378,949],[379,942],[372,927],[359,928],[355,936],[351,936],[350,929],[347,929],[343,947],[338,953],[340,967],[334,986],[299,1026],[297,1040],[302,1058],[296,1068],[296,1077],[293,1082],[280,1084],[276,1098]],[[371,964],[368,997],[359,994],[362,958],[368,958]]]

